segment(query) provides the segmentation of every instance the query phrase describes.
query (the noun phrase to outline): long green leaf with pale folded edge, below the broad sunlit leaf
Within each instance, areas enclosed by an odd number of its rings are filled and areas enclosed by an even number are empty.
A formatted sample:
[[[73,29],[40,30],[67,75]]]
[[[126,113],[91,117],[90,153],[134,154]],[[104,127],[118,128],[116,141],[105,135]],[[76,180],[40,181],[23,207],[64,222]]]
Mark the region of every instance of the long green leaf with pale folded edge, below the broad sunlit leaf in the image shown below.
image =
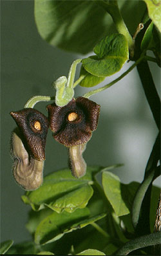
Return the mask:
[[[106,214],[90,217],[88,208],[77,209],[73,213],[53,212],[37,226],[35,243],[46,244],[61,239],[65,233],[84,228],[91,222],[95,222],[105,216]]]

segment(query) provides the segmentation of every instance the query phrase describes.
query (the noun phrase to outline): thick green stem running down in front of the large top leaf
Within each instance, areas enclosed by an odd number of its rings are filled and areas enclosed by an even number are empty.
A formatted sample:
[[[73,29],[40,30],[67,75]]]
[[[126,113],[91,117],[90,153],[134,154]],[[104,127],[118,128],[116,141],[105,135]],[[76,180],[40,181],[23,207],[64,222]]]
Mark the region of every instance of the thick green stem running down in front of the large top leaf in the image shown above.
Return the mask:
[[[124,19],[122,18],[122,15],[120,14],[117,0],[112,0],[112,1],[98,0],[96,1],[96,3],[102,6],[106,10],[106,12],[109,13],[109,15],[113,19],[113,22],[115,23],[118,33],[123,34],[126,37],[126,39],[128,40],[129,49],[132,49],[134,46],[134,42],[131,35],[129,34],[129,30],[126,27],[126,24],[124,23]]]

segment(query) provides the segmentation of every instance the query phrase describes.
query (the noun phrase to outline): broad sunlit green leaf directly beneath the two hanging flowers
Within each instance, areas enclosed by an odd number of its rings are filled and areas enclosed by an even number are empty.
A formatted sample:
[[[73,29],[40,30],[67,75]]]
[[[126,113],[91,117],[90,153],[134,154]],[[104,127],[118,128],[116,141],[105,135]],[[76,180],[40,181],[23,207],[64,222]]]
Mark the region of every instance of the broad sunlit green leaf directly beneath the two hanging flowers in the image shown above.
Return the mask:
[[[55,171],[44,178],[43,186],[39,189],[26,192],[21,198],[25,204],[30,204],[34,211],[50,207],[57,212],[75,211],[88,204],[93,195],[93,173],[100,171],[101,167],[88,167],[82,178],[71,175],[70,169]]]

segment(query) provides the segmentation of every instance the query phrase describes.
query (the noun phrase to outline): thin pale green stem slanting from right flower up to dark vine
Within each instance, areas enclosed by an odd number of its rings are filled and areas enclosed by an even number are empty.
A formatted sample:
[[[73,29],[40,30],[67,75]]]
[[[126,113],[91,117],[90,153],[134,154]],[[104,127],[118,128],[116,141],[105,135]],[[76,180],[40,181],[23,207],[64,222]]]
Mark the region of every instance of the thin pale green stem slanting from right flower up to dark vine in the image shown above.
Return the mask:
[[[87,92],[86,94],[84,94],[83,97],[84,98],[90,98],[91,95],[96,94],[98,92],[102,92],[102,91],[108,89],[109,87],[111,87],[112,85],[114,85],[115,83],[120,81],[122,78],[124,78],[124,76],[126,76],[131,70],[133,70],[138,65],[138,63],[140,63],[140,61],[142,61],[143,59],[144,59],[144,57],[140,57],[140,59],[138,59],[128,70],[126,70],[126,72],[124,72],[117,79],[111,81],[111,83],[108,83],[107,85],[104,85],[103,87],[100,87],[99,89],[95,89],[93,91]]]

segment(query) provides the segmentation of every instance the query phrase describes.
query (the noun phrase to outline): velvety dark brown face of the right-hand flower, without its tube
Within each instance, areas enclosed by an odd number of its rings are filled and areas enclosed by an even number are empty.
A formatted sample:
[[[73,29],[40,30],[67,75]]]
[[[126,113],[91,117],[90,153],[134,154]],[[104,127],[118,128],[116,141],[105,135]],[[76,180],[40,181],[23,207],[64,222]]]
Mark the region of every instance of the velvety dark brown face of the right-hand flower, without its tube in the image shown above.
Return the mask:
[[[53,103],[47,109],[53,137],[66,147],[88,142],[97,129],[100,105],[87,98],[73,99],[64,107]]]

